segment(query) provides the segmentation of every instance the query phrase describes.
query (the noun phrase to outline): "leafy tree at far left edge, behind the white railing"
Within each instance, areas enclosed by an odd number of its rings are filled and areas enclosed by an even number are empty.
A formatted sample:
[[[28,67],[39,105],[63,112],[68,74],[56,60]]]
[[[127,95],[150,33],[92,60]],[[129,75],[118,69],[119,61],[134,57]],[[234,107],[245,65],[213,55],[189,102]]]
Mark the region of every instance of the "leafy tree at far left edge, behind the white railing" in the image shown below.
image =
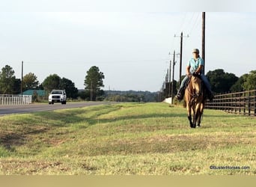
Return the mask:
[[[13,94],[15,84],[14,70],[12,67],[5,65],[0,73],[0,91],[3,94]]]

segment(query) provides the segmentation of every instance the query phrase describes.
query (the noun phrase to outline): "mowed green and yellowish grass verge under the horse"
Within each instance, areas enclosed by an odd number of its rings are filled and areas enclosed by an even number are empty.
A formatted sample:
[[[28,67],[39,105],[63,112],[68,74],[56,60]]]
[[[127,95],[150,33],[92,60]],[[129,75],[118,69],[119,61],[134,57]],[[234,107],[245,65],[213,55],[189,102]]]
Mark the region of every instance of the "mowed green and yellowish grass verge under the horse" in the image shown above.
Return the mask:
[[[204,110],[201,127],[191,129],[186,108],[165,103],[7,115],[0,117],[0,174],[255,175],[255,123]]]

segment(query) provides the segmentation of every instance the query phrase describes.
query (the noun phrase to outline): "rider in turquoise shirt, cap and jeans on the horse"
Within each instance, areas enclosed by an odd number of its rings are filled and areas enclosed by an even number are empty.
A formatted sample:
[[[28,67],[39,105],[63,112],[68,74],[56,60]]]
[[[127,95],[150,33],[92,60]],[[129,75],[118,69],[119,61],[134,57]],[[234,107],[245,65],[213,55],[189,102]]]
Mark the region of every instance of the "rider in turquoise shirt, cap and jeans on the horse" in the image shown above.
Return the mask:
[[[210,101],[213,101],[213,92],[210,88],[210,83],[208,82],[208,79],[206,76],[204,76],[204,60],[199,56],[199,50],[193,49],[193,58],[190,59],[186,66],[186,76],[183,79],[183,81],[180,84],[180,90],[177,93],[177,99],[180,101],[183,99],[186,85],[188,85],[189,79],[193,73],[200,74],[201,80],[204,82],[205,87],[207,88],[207,97],[210,99]]]

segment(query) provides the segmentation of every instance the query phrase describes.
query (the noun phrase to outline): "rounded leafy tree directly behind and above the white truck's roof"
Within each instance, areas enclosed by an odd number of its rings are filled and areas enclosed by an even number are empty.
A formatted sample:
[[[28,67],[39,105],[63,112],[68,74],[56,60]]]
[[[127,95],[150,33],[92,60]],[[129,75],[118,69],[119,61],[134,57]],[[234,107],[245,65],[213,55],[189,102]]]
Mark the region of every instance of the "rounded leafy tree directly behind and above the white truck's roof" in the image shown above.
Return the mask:
[[[49,75],[44,79],[43,83],[43,88],[46,91],[52,91],[53,89],[61,89],[61,77],[59,77],[57,74]]]

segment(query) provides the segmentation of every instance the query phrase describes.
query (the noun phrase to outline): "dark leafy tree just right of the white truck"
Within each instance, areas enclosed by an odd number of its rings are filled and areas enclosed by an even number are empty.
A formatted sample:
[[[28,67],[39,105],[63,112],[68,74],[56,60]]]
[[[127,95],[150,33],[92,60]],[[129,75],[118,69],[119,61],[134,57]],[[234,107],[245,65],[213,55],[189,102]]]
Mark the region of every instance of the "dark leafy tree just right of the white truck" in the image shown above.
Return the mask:
[[[67,97],[73,99],[77,98],[78,90],[75,87],[75,83],[73,83],[70,79],[62,78],[60,88],[66,91]]]

